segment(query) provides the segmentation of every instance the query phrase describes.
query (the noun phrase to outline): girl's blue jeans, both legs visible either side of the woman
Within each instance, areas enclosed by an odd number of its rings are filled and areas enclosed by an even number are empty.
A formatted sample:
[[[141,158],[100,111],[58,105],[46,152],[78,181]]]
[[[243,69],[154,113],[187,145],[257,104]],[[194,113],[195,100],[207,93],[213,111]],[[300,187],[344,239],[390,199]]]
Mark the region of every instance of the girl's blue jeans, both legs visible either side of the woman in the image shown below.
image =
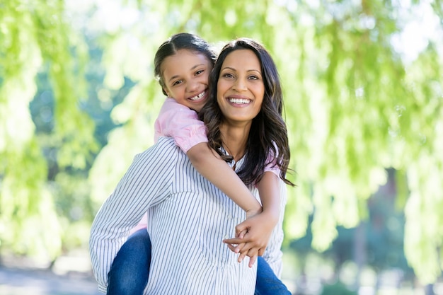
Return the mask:
[[[290,295],[266,260],[258,257],[255,295]],[[115,256],[108,273],[108,295],[142,295],[149,279],[151,239],[140,229],[127,239]]]

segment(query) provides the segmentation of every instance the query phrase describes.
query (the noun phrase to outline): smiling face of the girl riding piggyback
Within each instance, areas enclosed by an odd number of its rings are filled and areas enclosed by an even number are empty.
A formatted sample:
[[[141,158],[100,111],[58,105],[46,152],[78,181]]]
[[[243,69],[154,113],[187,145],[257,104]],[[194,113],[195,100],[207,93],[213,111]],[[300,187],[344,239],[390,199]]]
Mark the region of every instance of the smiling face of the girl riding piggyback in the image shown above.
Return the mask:
[[[178,50],[161,64],[164,91],[177,103],[200,112],[208,98],[208,79],[212,62],[205,54]]]

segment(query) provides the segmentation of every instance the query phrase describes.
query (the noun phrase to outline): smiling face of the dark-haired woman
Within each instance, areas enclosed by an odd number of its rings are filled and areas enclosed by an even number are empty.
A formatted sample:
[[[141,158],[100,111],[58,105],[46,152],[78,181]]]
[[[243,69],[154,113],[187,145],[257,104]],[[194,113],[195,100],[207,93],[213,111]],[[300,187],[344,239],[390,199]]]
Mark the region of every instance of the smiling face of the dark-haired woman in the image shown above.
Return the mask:
[[[230,122],[251,122],[260,112],[265,84],[252,50],[235,50],[224,59],[217,82],[217,103]]]

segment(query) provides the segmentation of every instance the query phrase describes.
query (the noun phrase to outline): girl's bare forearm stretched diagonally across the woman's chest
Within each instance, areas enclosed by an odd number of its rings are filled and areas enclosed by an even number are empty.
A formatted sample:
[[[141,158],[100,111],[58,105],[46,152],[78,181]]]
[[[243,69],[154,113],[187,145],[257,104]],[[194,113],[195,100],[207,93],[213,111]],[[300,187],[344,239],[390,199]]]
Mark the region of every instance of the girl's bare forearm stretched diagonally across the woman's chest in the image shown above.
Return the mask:
[[[234,170],[219,155],[212,151],[205,142],[200,142],[188,150],[188,158],[192,166],[231,198],[246,216],[253,216],[262,211],[260,203],[252,195],[248,187],[238,178]]]

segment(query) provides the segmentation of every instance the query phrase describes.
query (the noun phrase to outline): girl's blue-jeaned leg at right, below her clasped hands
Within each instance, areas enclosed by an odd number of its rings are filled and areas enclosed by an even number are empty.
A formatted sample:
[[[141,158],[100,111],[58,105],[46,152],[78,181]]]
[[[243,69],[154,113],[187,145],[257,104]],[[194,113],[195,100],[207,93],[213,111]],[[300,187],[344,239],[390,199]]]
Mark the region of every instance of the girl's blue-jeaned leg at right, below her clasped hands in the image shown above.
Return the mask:
[[[257,263],[255,295],[291,295],[291,292],[289,292],[283,282],[277,278],[264,258],[259,256]]]

